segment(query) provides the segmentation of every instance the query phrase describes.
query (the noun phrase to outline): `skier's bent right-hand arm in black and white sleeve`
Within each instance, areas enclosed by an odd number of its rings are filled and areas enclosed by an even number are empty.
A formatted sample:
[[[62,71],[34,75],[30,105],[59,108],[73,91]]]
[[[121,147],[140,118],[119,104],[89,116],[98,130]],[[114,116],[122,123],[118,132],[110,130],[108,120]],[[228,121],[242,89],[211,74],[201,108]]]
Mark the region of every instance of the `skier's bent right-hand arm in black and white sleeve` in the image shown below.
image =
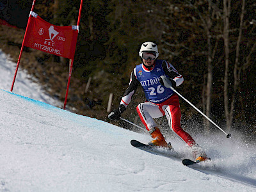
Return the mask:
[[[170,77],[173,87],[180,86],[180,84],[184,82],[182,75],[179,74],[179,72],[173,67],[171,63],[168,63],[167,61],[163,61],[162,67],[165,74]]]

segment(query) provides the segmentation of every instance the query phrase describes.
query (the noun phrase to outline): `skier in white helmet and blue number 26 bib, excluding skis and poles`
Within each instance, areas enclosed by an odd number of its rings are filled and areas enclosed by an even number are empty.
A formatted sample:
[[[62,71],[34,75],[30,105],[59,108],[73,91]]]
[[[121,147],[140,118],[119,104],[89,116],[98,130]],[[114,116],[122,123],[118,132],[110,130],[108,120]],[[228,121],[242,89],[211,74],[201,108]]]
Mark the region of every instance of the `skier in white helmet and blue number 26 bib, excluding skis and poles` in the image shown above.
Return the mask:
[[[165,115],[170,129],[188,144],[196,161],[205,161],[208,158],[204,150],[180,125],[181,113],[178,95],[164,86],[164,78],[168,79],[170,85],[175,87],[183,83],[183,77],[172,64],[157,59],[159,52],[157,45],[153,42],[143,43],[139,55],[143,63],[136,65],[131,72],[129,87],[120,101],[120,106],[108,115],[109,119],[120,120],[121,113],[125,111],[131,102],[132,95],[136,92],[138,85],[141,84],[147,100],[139,104],[136,109],[141,122],[153,138],[148,144],[165,148],[172,147],[166,143],[153,119]]]

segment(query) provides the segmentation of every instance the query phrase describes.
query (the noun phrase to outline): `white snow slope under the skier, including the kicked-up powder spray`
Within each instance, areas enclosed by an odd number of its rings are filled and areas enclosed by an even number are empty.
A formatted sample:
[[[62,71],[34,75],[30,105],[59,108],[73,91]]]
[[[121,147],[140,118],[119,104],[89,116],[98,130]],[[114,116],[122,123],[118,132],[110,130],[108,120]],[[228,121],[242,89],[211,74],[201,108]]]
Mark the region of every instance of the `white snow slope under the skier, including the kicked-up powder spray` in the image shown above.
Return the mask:
[[[10,93],[3,52],[0,65],[0,191],[256,191],[255,146],[239,134],[193,135],[212,161],[186,167],[191,154],[179,139],[167,138],[177,154],[161,151],[170,156],[132,147],[150,136],[52,106],[22,70],[24,88]]]

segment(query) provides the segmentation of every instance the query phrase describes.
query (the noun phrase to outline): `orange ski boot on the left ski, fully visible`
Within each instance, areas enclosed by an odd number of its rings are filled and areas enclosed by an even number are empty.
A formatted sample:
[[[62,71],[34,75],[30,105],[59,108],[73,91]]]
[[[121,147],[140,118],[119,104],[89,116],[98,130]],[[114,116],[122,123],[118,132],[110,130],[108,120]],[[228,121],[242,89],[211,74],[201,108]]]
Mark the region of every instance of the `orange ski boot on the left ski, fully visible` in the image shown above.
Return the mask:
[[[152,136],[153,140],[148,143],[148,145],[154,145],[158,147],[164,147],[168,149],[173,149],[171,143],[166,143],[164,136],[157,127],[153,127],[148,131]]]

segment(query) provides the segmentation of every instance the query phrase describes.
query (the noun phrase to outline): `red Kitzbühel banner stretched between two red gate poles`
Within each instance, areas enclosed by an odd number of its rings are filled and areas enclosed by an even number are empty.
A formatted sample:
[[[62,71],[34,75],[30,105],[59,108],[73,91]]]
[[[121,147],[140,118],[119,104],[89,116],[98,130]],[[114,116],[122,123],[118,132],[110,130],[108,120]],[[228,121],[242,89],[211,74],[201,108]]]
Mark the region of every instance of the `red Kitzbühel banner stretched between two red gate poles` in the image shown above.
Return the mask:
[[[54,26],[38,15],[29,17],[24,46],[73,60],[78,35],[75,27]]]

